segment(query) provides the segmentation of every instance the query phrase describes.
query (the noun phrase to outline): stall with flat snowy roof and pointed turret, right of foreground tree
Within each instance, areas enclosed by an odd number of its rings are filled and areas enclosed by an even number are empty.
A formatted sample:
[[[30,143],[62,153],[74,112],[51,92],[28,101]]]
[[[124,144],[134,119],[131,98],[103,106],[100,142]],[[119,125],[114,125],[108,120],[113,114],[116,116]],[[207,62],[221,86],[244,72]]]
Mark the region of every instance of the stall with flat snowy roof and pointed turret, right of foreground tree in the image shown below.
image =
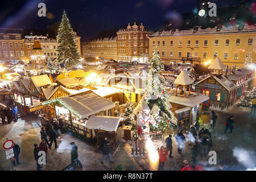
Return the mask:
[[[204,94],[191,92],[192,79],[184,71],[174,81],[176,89],[170,89],[172,111],[177,117],[177,129],[188,130],[201,114],[201,103],[209,97]]]

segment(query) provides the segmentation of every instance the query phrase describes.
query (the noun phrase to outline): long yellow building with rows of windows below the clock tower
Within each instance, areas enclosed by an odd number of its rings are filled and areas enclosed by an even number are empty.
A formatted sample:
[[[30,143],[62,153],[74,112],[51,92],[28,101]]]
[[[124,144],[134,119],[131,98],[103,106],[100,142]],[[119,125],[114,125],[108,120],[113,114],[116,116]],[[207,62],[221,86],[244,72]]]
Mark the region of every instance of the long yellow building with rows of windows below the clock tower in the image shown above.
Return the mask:
[[[156,49],[167,65],[207,64],[219,57],[224,65],[242,68],[246,56],[256,63],[256,26],[155,32],[150,35],[149,45],[150,58]]]

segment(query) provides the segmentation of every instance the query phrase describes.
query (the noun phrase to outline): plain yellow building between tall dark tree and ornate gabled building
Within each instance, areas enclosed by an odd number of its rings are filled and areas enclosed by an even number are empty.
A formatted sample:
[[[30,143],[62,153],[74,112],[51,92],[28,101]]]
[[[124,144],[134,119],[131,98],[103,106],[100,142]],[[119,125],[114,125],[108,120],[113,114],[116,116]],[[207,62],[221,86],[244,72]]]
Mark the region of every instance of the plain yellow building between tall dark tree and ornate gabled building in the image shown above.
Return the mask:
[[[91,57],[98,57],[99,60],[117,60],[117,37],[95,39],[90,42]]]

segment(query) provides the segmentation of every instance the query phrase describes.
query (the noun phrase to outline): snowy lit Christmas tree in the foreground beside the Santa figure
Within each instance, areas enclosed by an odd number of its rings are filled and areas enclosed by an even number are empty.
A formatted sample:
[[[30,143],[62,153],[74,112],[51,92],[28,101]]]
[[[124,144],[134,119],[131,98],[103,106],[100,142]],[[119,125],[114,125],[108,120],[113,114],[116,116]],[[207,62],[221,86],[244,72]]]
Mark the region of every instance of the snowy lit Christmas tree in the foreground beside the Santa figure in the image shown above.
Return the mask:
[[[153,134],[167,131],[170,125],[177,126],[177,118],[172,113],[171,104],[168,101],[169,95],[164,89],[164,77],[159,74],[163,70],[164,66],[160,63],[160,57],[158,53],[154,52],[150,60],[150,71],[147,76],[145,96],[135,109],[138,113],[138,126],[142,126],[139,123],[147,123],[147,126],[150,127],[150,132]],[[148,114],[150,118],[147,117]],[[139,121],[140,119],[141,121]],[[142,126],[142,131],[143,127],[146,129],[147,126]]]

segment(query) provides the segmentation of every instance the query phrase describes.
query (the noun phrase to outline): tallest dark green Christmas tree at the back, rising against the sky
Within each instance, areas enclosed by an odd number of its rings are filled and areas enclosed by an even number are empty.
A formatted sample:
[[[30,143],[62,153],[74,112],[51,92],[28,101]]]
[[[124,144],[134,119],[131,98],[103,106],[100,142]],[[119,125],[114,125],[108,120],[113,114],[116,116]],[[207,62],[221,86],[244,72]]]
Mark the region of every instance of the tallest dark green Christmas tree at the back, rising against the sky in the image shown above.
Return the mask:
[[[68,17],[63,12],[61,23],[57,35],[57,60],[66,66],[76,65],[80,63],[79,48],[76,44],[75,33],[69,24]]]

